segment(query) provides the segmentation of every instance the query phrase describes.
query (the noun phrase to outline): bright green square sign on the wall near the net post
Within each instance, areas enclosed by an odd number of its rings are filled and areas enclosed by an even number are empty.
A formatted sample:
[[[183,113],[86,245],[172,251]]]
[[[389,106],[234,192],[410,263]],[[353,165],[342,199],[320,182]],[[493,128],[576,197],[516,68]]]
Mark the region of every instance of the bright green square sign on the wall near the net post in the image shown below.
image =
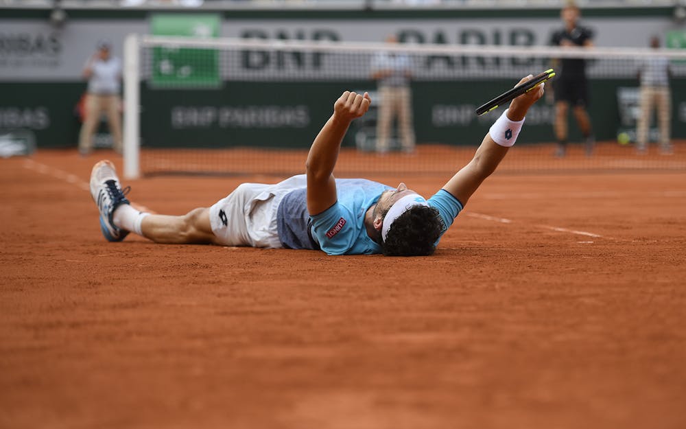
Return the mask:
[[[151,21],[156,36],[216,38],[220,35],[218,14],[155,14]],[[156,47],[152,57],[151,84],[163,88],[217,88],[222,85],[219,51]]]

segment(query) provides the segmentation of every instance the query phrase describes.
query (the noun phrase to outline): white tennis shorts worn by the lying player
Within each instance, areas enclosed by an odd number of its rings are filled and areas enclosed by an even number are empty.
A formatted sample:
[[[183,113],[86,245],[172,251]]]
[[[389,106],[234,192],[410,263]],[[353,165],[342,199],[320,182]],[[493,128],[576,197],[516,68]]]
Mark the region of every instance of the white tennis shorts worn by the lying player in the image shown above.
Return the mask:
[[[279,248],[276,211],[285,194],[307,186],[305,174],[275,185],[242,183],[210,207],[210,224],[219,244]]]

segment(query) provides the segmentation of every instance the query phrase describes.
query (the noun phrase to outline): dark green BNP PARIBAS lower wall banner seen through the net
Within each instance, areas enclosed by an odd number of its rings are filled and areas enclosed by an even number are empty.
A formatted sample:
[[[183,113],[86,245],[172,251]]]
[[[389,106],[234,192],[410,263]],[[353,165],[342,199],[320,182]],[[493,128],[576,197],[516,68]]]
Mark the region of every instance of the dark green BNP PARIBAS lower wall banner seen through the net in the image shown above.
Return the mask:
[[[510,85],[510,80],[493,82],[414,82],[413,115],[417,141],[455,146],[480,143],[498,112],[477,117],[474,109],[490,84]],[[591,82],[595,137],[615,140],[620,121],[617,91],[635,87],[633,79]],[[674,93],[685,91],[686,82],[674,82]],[[372,91],[370,81],[349,82],[355,91]],[[141,112],[141,137],[147,148],[309,148],[322,124],[331,115],[331,100],[342,91],[338,82],[224,82],[219,91],[187,91],[182,99],[174,91],[141,88],[146,108]],[[279,94],[279,97],[274,97]],[[683,127],[674,103],[674,137],[681,138]],[[685,104],[686,106],[686,104]],[[519,146],[555,141],[554,104],[541,100],[527,115],[527,125]],[[628,128],[633,123],[628,124]],[[569,117],[570,141],[582,141],[578,126]],[[375,135],[375,109],[353,122],[344,146],[362,150],[371,146]]]

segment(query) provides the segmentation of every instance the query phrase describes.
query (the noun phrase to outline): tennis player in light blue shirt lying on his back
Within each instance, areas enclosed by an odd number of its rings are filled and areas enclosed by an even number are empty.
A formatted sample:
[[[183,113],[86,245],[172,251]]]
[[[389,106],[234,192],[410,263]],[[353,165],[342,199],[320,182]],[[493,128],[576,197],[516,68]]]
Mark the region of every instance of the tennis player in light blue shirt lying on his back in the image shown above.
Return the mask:
[[[523,78],[523,83],[532,76]],[[122,192],[114,165],[99,161],[91,173],[91,195],[102,233],[121,241],[130,232],[157,243],[219,244],[319,249],[329,255],[431,255],[477,187],[495,171],[544,84],[512,100],[490,127],[473,159],[428,200],[404,183],[389,187],[365,179],[337,179],[333,167],[353,119],[370,97],[345,91],[333,104],[307,155],[307,174],[281,183],[243,183],[209,208],[184,216],[138,211]]]

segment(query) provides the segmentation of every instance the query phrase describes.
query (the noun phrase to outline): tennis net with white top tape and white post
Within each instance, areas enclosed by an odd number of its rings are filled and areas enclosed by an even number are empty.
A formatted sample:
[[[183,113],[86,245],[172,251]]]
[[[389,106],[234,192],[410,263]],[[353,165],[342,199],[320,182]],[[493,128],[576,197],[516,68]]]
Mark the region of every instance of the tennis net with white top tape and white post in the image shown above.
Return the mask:
[[[686,103],[678,97],[672,100],[670,153],[659,151],[656,143],[647,153],[635,150],[637,71],[658,58],[669,62],[672,94],[686,93],[686,51],[675,49],[132,35],[125,47],[125,173],[302,173],[307,150],[331,115],[333,102],[351,90],[369,92],[372,107],[348,130],[335,174],[450,174],[471,159],[506,108],[477,116],[477,106],[528,74],[554,67],[559,77],[560,71],[565,73],[562,63],[573,67],[569,60],[584,62],[587,71],[593,151],[587,151],[570,112],[566,156],[554,156],[556,106],[548,85],[499,171],[686,170]],[[409,78],[416,141],[411,153],[403,146],[407,137],[398,119],[390,127],[390,151],[379,153],[377,146],[383,132],[377,121],[385,101],[381,95],[388,93],[377,87],[375,73],[389,63],[401,64]],[[649,131],[650,139],[658,141],[657,121]]]

